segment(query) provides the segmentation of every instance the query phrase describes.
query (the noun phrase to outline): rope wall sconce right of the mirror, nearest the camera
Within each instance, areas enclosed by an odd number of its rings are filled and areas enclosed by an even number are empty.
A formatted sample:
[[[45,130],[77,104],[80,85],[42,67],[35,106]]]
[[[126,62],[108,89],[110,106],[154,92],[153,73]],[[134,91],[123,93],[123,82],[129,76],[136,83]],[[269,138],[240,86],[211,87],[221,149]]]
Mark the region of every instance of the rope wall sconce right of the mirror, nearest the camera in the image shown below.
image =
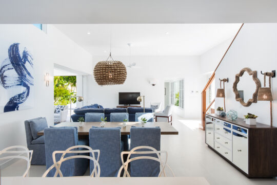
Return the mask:
[[[270,101],[270,126],[272,126],[272,93],[271,93],[271,78],[275,77],[275,70],[272,72],[261,71],[262,75],[264,75],[264,87],[260,87],[258,90],[258,101]],[[266,76],[269,77],[269,87],[266,86]]]

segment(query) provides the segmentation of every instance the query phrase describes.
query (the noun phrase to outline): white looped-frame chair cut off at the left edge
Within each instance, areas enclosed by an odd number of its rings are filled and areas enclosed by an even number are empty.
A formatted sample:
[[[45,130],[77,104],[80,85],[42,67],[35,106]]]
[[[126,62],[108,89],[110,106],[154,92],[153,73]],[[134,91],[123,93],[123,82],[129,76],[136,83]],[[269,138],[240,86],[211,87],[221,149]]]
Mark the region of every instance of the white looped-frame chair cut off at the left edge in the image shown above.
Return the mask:
[[[3,155],[3,154],[6,156],[1,157],[1,155]],[[26,154],[26,156],[24,156],[24,154]],[[28,150],[27,147],[20,146],[20,145],[9,146],[9,147],[6,147],[6,149],[0,151],[0,161],[1,160],[9,160],[9,159],[10,160],[13,160],[13,159],[26,160],[27,168],[23,174],[23,177],[26,177],[26,176],[29,177],[29,170],[31,167],[32,156],[33,156],[32,150]]]

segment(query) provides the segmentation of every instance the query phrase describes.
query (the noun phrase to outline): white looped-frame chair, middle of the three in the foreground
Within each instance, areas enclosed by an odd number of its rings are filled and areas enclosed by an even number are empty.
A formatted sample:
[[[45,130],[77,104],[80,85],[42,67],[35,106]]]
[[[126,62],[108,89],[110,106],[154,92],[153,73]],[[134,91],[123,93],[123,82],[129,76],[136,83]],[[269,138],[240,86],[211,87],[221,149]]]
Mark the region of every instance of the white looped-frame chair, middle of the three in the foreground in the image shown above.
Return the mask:
[[[74,149],[87,149],[87,150],[74,150]],[[91,154],[91,156],[87,156],[87,155],[74,155],[74,156],[69,156],[69,157],[65,157],[66,154],[84,154],[84,153],[89,153]],[[95,155],[94,153],[97,153],[97,159],[95,159]],[[56,161],[56,154],[62,154],[61,158],[59,161]],[[91,147],[86,146],[86,145],[76,145],[76,146],[72,146],[69,147],[66,151],[54,151],[52,154],[53,157],[53,165],[51,165],[51,167],[49,169],[47,169],[45,171],[45,173],[43,174],[42,177],[46,177],[47,174],[53,169],[56,169],[55,175],[54,177],[57,177],[57,175],[60,175],[60,177],[63,177],[63,173],[60,170],[61,165],[64,161],[67,161],[69,159],[76,159],[76,158],[86,158],[89,160],[92,160],[94,163],[94,169],[90,174],[90,177],[100,177],[100,165],[98,163],[99,160],[99,156],[100,156],[100,150],[92,150]]]

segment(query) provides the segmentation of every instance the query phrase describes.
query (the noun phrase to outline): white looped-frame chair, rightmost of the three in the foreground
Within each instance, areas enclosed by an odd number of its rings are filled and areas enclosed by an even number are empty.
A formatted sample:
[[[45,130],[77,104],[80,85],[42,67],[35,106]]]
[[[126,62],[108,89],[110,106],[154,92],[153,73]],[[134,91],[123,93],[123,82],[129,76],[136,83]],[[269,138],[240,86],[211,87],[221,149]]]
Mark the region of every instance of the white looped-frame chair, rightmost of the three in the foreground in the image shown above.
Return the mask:
[[[143,149],[143,150],[147,149],[148,151],[139,151],[139,152],[137,151],[137,150],[141,150],[141,149]],[[123,156],[125,154],[128,154],[126,162],[124,162],[124,158],[123,158]],[[143,155],[144,154],[145,156],[137,156],[137,157],[130,158],[132,154],[136,154],[136,155]],[[156,154],[157,157],[147,156],[149,154]],[[165,154],[165,156],[166,156],[165,161],[162,160],[161,154]],[[140,159],[150,159],[150,160],[155,160],[157,162],[160,162],[160,173],[159,173],[158,177],[161,177],[162,175],[164,177],[166,177],[165,167],[167,167],[170,170],[170,172],[172,173],[172,176],[174,177],[173,171],[171,170],[171,168],[167,164],[167,152],[166,151],[157,151],[156,149],[154,149],[151,146],[137,146],[137,147],[134,147],[129,152],[121,152],[122,166],[118,170],[117,177],[121,176],[121,172],[122,172],[123,169],[124,169],[123,177],[126,177],[126,176],[131,177],[130,173],[128,172],[128,164],[132,161],[140,160]]]

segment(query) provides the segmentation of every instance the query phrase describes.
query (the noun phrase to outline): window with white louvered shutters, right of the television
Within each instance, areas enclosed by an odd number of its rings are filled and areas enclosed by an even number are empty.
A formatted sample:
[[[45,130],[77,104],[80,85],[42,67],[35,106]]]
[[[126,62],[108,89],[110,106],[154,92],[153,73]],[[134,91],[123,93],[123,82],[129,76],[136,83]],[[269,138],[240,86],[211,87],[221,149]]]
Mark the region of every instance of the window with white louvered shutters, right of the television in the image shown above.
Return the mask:
[[[171,104],[184,108],[184,80],[171,82]]]

